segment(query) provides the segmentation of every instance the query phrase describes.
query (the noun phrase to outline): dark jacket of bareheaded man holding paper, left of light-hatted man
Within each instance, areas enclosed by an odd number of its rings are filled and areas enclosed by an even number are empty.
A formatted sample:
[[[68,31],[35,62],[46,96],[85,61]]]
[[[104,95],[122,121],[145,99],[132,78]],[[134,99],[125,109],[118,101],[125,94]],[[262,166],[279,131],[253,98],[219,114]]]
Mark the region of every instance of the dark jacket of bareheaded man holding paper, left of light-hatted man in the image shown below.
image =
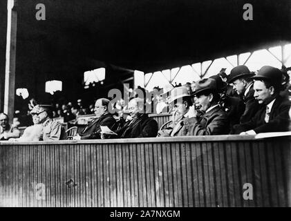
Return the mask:
[[[120,138],[156,137],[158,123],[147,114],[143,114],[135,122],[126,122],[116,133]]]

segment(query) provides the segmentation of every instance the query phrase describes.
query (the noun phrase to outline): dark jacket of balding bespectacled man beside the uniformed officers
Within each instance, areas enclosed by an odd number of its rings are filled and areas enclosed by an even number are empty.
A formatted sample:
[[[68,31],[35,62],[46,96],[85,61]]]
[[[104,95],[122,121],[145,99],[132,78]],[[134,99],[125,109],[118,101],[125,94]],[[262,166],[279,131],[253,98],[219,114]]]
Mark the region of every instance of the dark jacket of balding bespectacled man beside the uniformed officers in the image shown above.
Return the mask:
[[[100,126],[108,126],[109,129],[112,130],[115,125],[115,119],[110,113],[106,113],[101,117],[93,119],[86,128],[79,134],[81,136],[81,140],[86,139],[100,139]]]

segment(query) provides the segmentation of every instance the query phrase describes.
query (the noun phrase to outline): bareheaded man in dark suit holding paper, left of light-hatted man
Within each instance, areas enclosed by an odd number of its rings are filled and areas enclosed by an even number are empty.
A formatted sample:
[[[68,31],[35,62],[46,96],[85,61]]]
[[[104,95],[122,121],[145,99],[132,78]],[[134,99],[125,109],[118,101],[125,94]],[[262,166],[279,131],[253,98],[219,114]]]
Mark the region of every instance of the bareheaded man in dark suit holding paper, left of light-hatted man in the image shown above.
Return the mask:
[[[133,98],[129,102],[129,115],[131,119],[118,131],[115,131],[118,138],[136,138],[136,137],[156,137],[158,133],[158,123],[144,113],[144,99]],[[113,138],[113,136],[111,136]],[[106,135],[102,135],[106,138]]]

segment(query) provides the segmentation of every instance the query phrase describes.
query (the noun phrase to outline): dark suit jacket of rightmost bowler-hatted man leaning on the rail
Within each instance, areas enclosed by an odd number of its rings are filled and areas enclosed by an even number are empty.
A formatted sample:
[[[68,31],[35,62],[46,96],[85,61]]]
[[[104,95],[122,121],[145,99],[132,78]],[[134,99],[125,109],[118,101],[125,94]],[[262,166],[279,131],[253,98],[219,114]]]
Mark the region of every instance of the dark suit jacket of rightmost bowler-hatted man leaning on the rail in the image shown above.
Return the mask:
[[[288,131],[290,101],[284,97],[277,96],[270,112],[269,122],[265,122],[266,106],[252,117],[249,122],[234,126],[234,133],[254,130],[256,133]]]

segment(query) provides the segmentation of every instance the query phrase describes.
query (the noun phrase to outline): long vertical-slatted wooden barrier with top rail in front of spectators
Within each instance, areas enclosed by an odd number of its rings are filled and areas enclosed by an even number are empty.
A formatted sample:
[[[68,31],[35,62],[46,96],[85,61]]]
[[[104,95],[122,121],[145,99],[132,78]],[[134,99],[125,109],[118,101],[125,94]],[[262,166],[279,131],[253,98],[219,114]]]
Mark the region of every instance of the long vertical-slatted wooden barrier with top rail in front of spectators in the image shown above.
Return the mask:
[[[0,206],[290,206],[290,140],[1,142]]]

